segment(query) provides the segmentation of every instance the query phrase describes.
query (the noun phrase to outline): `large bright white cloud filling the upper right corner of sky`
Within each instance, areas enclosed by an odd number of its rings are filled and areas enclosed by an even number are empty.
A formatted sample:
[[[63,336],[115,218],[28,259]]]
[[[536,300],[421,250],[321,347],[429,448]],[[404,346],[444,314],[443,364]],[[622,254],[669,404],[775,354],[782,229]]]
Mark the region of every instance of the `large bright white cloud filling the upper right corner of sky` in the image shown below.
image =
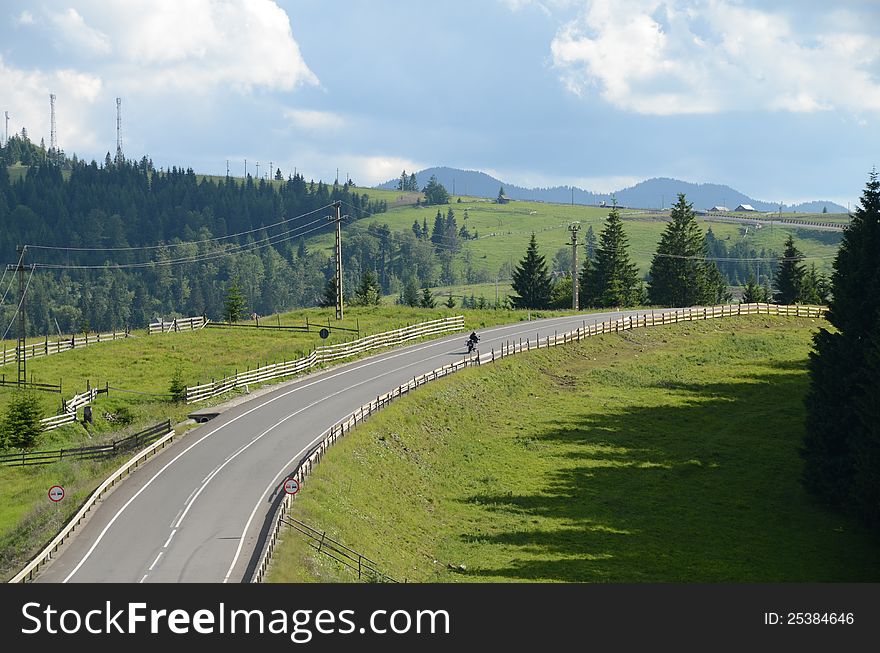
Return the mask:
[[[573,93],[637,113],[880,111],[880,39],[839,12],[804,34],[729,0],[594,0],[551,52]]]

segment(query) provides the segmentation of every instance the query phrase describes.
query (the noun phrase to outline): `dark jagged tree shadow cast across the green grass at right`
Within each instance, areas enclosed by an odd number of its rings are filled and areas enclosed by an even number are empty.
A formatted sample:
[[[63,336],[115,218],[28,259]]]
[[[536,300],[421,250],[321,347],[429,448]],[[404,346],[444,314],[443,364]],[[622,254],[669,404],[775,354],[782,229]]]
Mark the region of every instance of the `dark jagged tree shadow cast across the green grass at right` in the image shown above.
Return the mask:
[[[566,582],[867,581],[877,540],[799,485],[802,365],[664,385],[669,404],[541,425],[561,462],[521,494],[466,503],[483,532],[465,577]],[[794,415],[792,414],[794,413]],[[503,524],[503,526],[501,526]],[[481,558],[492,562],[480,564]],[[501,564],[493,564],[505,560]]]

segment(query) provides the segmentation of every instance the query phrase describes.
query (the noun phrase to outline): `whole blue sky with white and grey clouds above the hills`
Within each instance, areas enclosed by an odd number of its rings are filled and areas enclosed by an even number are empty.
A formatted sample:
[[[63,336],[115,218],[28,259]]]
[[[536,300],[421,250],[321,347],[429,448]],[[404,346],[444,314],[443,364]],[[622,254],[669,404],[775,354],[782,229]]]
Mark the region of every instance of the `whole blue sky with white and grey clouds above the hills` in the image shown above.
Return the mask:
[[[361,185],[448,165],[607,192],[650,177],[858,200],[880,164],[880,3],[4,0],[9,130],[198,172]],[[0,114],[2,116],[2,114]]]

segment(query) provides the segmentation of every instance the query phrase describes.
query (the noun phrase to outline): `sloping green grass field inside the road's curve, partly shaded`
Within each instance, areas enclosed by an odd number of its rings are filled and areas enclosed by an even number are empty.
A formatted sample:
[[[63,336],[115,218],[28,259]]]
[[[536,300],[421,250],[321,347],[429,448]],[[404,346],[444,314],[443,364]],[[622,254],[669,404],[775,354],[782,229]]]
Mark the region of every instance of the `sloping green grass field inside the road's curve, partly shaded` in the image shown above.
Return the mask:
[[[293,516],[410,582],[880,580],[798,482],[815,320],[607,335],[461,372],[335,445]],[[284,531],[275,582],[356,577]]]

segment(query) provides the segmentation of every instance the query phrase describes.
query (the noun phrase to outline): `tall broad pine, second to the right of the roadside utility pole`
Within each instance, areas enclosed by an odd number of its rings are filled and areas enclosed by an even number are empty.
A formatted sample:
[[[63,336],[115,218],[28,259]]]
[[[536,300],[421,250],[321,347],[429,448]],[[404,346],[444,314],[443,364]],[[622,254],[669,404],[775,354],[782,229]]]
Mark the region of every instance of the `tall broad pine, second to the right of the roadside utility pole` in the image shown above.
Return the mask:
[[[693,211],[693,204],[679,193],[669,213],[657,253],[651,261],[648,301],[661,306],[714,304],[718,295],[712,283],[714,261],[706,260],[706,239]]]

